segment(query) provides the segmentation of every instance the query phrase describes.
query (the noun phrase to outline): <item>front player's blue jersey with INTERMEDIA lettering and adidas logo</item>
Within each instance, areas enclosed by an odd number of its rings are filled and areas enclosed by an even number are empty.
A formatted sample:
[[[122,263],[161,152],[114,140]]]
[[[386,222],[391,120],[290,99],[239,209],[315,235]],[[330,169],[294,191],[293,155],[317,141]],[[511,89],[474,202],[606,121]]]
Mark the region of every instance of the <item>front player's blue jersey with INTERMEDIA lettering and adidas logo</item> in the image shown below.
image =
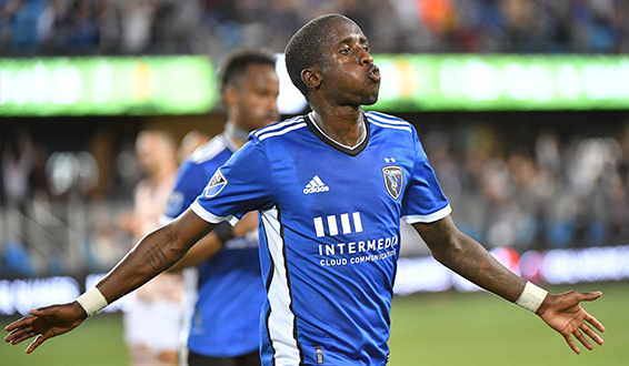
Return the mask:
[[[260,129],[191,206],[211,223],[259,210],[263,365],[386,364],[400,218],[451,211],[412,125],[365,121],[351,149],[310,115]]]

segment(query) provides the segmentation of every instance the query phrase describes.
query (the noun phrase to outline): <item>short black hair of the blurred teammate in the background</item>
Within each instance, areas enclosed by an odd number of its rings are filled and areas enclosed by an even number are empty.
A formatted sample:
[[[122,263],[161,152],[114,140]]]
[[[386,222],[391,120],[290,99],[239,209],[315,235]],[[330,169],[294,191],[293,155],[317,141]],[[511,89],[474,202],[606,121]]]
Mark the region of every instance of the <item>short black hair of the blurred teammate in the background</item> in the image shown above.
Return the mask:
[[[220,67],[220,94],[224,93],[227,87],[237,83],[252,64],[268,64],[274,68],[276,55],[261,50],[240,50],[230,54]]]

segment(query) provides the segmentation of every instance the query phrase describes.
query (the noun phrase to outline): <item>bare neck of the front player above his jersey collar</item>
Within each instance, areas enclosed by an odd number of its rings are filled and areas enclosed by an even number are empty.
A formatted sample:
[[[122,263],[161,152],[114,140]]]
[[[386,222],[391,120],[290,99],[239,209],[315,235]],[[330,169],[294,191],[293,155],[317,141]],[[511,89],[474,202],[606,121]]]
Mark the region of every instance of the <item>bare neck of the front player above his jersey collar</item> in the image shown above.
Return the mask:
[[[314,123],[333,141],[346,146],[356,146],[365,136],[362,108],[343,108],[333,111],[314,110]]]

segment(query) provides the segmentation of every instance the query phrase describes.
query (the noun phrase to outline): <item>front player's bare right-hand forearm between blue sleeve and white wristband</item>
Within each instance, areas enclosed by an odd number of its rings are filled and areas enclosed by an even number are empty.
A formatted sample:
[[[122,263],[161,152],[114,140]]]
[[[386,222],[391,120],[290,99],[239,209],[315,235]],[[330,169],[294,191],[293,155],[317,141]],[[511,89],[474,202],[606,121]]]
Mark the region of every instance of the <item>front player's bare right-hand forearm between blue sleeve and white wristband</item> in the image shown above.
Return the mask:
[[[413,225],[432,255],[448,268],[503,298],[516,302],[526,279],[517,276],[471,237],[459,232],[450,217],[430,225]]]

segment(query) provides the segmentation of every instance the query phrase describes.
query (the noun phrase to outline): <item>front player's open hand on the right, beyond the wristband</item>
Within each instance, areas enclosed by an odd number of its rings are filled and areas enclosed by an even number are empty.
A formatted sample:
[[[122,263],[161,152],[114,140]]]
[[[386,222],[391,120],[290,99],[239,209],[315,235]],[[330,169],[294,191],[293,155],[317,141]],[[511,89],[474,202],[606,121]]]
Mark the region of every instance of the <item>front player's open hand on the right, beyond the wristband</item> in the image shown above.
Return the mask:
[[[583,301],[591,302],[599,298],[601,295],[602,293],[600,292],[577,293],[573,291],[559,295],[548,294],[538,308],[537,314],[546,324],[561,333],[576,354],[580,354],[581,349],[575,344],[572,335],[575,335],[586,348],[591,350],[593,347],[583,333],[599,345],[602,345],[602,338],[585,322],[593,325],[599,332],[605,332],[605,327],[599,321],[586,312],[579,303]]]

